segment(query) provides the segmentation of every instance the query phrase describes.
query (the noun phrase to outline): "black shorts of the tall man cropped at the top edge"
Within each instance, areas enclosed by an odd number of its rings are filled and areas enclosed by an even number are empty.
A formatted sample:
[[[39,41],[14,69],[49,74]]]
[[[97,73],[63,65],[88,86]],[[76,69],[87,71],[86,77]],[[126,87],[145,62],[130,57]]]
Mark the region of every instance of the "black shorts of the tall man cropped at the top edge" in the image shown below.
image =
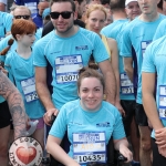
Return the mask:
[[[138,126],[148,126],[147,116],[145,114],[143,104],[136,103],[135,120]]]

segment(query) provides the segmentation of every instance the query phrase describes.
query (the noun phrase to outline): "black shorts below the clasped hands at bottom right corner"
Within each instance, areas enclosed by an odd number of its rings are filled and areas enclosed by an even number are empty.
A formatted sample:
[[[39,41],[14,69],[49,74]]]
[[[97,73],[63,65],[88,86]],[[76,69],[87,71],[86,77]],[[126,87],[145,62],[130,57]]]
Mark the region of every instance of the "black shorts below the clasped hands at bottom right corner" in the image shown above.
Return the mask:
[[[158,153],[158,147],[154,138],[152,138],[152,147],[153,147],[153,166],[166,166],[166,157],[162,156]]]

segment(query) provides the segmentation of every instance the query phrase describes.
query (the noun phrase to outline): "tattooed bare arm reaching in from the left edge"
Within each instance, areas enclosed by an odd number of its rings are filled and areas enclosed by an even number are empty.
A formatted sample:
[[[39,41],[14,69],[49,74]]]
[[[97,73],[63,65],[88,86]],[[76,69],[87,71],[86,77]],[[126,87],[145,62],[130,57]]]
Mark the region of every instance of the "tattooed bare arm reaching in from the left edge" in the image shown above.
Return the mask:
[[[13,120],[14,138],[25,135],[27,114],[22,102],[21,94],[8,77],[0,71],[0,95],[2,95],[9,105]]]

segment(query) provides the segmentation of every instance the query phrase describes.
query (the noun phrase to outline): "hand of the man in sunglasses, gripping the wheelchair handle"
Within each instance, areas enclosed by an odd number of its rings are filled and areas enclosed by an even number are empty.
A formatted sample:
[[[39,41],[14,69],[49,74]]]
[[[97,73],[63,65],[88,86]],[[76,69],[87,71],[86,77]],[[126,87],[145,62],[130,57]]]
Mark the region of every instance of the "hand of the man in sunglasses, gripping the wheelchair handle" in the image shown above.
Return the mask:
[[[43,115],[43,120],[45,122],[46,125],[51,125],[51,116],[58,116],[59,111],[56,108],[50,108],[46,111],[46,113]]]

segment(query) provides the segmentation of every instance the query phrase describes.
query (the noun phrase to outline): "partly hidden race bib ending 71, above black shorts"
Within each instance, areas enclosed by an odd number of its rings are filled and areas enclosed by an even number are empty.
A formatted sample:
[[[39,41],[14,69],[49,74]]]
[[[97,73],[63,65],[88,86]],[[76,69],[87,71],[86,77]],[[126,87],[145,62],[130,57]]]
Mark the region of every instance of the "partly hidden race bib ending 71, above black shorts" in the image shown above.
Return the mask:
[[[134,94],[134,86],[126,73],[121,73],[121,93]]]

